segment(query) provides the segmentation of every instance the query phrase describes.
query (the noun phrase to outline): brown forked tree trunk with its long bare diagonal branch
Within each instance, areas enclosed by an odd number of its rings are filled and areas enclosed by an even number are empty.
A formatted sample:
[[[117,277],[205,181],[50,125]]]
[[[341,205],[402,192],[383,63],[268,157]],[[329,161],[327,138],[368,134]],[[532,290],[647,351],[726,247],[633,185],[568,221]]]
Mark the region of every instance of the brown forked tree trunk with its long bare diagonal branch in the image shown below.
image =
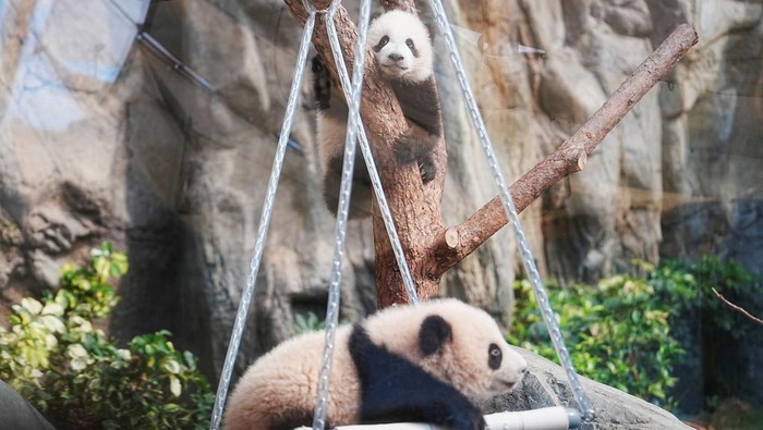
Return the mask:
[[[328,0],[311,1],[317,10],[325,10],[330,3]],[[284,0],[284,2],[292,15],[304,25],[307,11],[302,1]],[[414,2],[410,0],[382,0],[382,5],[386,10],[416,10]],[[338,8],[336,24],[348,70],[352,70],[352,51],[356,45],[358,30],[342,7]],[[576,134],[510,186],[517,209],[522,211],[552,185],[571,173],[583,170],[589,155],[607,133],[697,41],[697,33],[692,27],[679,26]],[[313,45],[336,78],[337,71],[329,49],[325,21],[322,19],[316,22]],[[452,228],[444,225],[441,196],[445,184],[444,172],[447,165],[445,145],[440,143],[434,155],[438,174],[425,186],[422,185],[419,169],[415,165],[397,165],[391,155],[391,147],[397,137],[397,131],[403,130],[405,121],[393,93],[379,78],[371,51],[364,66],[361,115],[405,258],[416,282],[416,290],[420,297],[425,299],[437,294],[439,281],[448,269],[506,225],[507,217],[499,198],[495,197],[460,225]],[[405,303],[408,297],[400,272],[376,207],[373,209],[373,219],[377,306],[383,308],[396,303]]]

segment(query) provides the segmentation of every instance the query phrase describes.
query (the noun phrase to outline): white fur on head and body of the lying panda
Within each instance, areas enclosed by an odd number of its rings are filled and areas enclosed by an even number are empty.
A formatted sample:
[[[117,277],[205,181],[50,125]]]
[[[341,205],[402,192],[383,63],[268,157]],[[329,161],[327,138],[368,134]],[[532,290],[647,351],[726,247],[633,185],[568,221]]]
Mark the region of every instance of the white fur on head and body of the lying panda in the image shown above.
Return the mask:
[[[443,317],[451,325],[453,342],[439,354],[422,357],[419,330],[431,315]],[[420,365],[474,400],[509,391],[526,367],[524,358],[509,347],[486,312],[456,299],[388,308],[370,317],[363,325],[374,343]],[[351,327],[339,328],[335,339],[327,410],[328,421],[334,426],[359,422],[361,386],[348,351],[351,330]],[[497,370],[487,366],[491,343],[498,345],[504,354]],[[226,429],[269,428],[279,416],[294,410],[312,416],[323,344],[323,332],[303,334],[252,365],[228,402]]]

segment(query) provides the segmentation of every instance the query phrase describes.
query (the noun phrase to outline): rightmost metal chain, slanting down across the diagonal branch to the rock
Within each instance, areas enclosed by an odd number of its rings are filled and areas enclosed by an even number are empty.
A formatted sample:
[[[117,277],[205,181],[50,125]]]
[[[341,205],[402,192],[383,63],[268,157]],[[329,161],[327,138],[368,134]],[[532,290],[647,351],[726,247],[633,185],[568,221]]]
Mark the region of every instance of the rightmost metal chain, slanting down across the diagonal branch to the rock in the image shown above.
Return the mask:
[[[554,310],[552,309],[550,303],[548,300],[548,293],[546,292],[546,288],[543,286],[543,282],[541,281],[541,274],[538,273],[537,267],[535,266],[535,260],[533,258],[532,251],[530,250],[530,244],[528,243],[528,239],[524,236],[524,232],[522,231],[522,226],[519,223],[517,207],[514,206],[513,200],[509,195],[509,188],[506,184],[506,181],[504,180],[502,173],[500,172],[496,153],[493,149],[493,144],[491,143],[491,139],[487,135],[487,130],[482,121],[482,115],[480,114],[476,101],[474,100],[474,95],[471,90],[469,82],[467,81],[465,72],[463,70],[463,63],[461,62],[461,58],[456,49],[456,41],[453,39],[453,34],[450,30],[448,19],[445,15],[443,3],[440,0],[429,0],[429,5],[434,11],[437,24],[439,25],[439,28],[443,32],[443,35],[445,36],[445,44],[448,47],[450,62],[456,69],[456,75],[461,86],[461,93],[467,103],[467,108],[469,109],[472,122],[476,127],[477,136],[480,137],[480,144],[482,145],[482,149],[485,152],[485,157],[487,158],[487,163],[489,164],[491,170],[493,171],[496,185],[498,186],[500,201],[504,205],[504,210],[506,211],[509,220],[511,221],[511,225],[513,226],[514,235],[519,244],[520,254],[524,262],[524,269],[528,272],[528,278],[530,279],[530,283],[533,286],[533,291],[535,292],[535,298],[537,300],[538,307],[541,308],[541,314],[543,315],[543,320],[546,323],[548,334],[552,337],[552,343],[554,344],[556,354],[559,357],[559,361],[561,363],[561,366],[565,369],[565,372],[567,373],[570,386],[572,388],[572,394],[574,395],[574,398],[578,402],[579,407],[581,408],[581,413],[584,419],[590,421],[594,418],[595,411],[591,406],[589,397],[583,391],[583,386],[580,383],[578,373],[576,373],[574,371],[574,367],[572,366],[572,360],[570,359],[567,346],[565,346],[565,340],[561,335],[561,331],[559,331],[559,325],[556,319],[554,318]]]

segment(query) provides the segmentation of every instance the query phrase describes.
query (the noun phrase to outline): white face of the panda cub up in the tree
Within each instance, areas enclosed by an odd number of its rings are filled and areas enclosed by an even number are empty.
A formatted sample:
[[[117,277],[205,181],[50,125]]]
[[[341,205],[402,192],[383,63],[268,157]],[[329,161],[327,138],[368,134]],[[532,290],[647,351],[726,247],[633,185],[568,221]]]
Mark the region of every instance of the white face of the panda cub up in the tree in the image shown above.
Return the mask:
[[[429,32],[412,13],[390,11],[379,15],[368,27],[368,46],[387,78],[415,83],[432,75]]]

